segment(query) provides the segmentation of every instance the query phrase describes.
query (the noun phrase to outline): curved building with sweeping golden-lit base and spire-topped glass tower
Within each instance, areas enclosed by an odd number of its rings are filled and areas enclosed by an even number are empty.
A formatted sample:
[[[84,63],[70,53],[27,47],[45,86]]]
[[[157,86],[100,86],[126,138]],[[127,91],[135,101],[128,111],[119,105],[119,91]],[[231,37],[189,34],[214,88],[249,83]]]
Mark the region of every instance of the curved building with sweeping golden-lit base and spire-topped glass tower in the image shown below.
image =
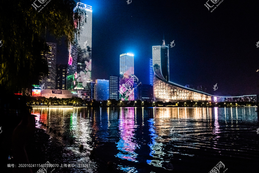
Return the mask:
[[[209,94],[192,90],[169,81],[169,48],[163,40],[162,46],[153,46],[153,96],[156,101],[207,100]]]

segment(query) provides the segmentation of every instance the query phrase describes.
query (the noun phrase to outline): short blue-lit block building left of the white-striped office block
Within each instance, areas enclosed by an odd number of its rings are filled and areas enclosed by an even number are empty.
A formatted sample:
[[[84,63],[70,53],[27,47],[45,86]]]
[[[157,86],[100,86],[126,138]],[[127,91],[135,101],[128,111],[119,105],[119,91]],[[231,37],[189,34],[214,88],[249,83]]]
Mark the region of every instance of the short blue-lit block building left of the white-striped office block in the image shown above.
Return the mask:
[[[97,101],[108,100],[109,98],[109,80],[96,80],[95,98]]]

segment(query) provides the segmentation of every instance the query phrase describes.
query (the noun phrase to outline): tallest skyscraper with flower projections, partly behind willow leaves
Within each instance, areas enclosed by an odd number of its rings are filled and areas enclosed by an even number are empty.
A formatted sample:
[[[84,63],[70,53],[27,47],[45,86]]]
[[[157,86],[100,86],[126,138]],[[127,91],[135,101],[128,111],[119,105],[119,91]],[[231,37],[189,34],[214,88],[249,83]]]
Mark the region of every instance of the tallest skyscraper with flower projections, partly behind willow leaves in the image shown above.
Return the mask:
[[[75,34],[74,44],[68,50],[67,90],[86,90],[86,100],[91,99],[92,64],[92,7],[78,2],[74,12],[80,12],[81,30]],[[77,27],[77,26],[76,26]],[[79,33],[80,32],[80,33]]]

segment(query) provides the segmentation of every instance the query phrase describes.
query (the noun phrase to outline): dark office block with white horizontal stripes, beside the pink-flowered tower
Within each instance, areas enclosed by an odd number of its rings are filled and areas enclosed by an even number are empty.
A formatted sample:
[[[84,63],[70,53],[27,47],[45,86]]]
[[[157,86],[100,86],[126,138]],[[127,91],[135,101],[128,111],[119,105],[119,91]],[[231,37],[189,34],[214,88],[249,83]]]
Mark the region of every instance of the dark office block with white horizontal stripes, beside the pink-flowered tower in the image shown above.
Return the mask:
[[[119,100],[120,77],[111,75],[109,81],[109,98]]]

